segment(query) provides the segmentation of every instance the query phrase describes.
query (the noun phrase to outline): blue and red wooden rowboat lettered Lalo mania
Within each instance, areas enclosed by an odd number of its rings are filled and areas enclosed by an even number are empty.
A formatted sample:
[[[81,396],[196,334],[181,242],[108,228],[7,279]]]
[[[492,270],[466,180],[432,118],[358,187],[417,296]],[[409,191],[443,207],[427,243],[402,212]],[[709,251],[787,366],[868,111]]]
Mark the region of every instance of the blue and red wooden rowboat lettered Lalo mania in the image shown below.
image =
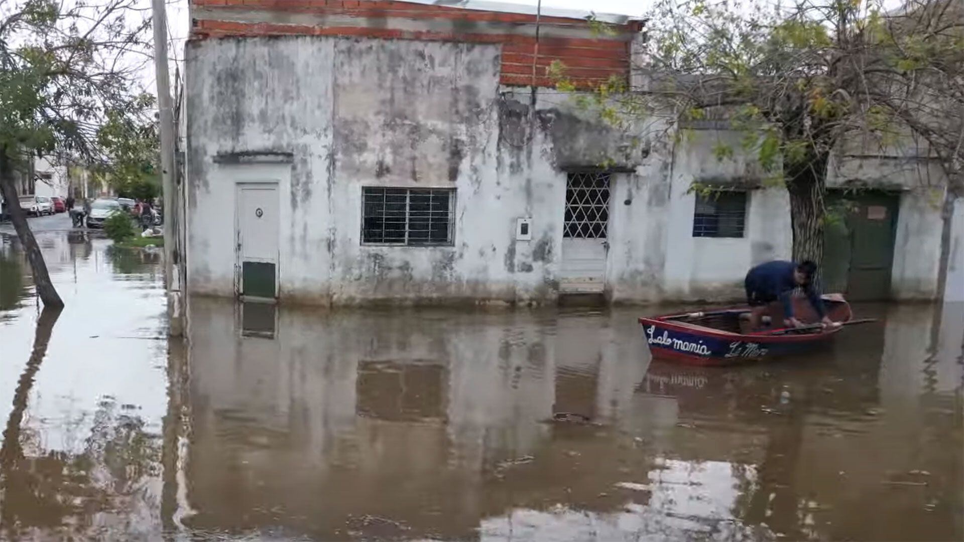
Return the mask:
[[[822,296],[827,316],[835,322],[852,320],[850,305],[840,294]],[[817,321],[817,314],[806,299],[793,299],[794,313],[804,323]],[[823,330],[819,325],[803,328],[767,327],[750,331],[749,307],[734,307],[712,312],[685,312],[639,318],[643,338],[654,358],[698,365],[726,366],[761,361],[804,351],[833,339],[844,326]],[[764,321],[783,323],[779,304],[769,308]],[[867,320],[859,320],[864,322]]]

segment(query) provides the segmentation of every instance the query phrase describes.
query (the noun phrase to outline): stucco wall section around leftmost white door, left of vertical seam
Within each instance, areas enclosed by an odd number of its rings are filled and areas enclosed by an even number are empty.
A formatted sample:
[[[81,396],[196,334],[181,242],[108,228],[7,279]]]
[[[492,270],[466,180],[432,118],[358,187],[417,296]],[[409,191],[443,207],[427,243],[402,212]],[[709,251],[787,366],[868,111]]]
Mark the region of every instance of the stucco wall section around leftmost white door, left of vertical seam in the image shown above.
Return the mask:
[[[234,293],[234,183],[277,180],[282,291],[324,298],[328,172],[334,164],[334,40],[187,46],[188,284]],[[291,152],[294,164],[226,165],[219,154]],[[308,228],[308,225],[311,227]]]

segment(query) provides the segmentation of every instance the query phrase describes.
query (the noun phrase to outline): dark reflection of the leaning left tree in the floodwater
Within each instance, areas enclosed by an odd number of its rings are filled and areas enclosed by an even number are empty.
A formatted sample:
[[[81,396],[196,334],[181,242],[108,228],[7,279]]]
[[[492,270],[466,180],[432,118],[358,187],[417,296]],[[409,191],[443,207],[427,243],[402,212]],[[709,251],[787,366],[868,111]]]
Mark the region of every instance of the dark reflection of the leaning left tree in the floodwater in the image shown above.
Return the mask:
[[[13,394],[0,447],[0,538],[90,537],[111,525],[105,514],[136,522],[147,478],[159,474],[160,439],[145,431],[134,407],[105,397],[94,413],[83,450],[43,450],[39,433],[24,426],[28,398],[59,311],[40,312],[30,359]],[[133,528],[133,525],[127,526]],[[136,530],[136,528],[135,528]]]

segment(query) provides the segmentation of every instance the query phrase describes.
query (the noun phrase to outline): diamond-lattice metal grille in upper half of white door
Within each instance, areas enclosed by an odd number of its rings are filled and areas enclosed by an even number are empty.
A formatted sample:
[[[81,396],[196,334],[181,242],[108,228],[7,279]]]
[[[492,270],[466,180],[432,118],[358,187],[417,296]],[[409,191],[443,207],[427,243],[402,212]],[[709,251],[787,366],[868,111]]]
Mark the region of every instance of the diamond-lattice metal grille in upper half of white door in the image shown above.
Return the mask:
[[[569,174],[566,181],[563,236],[573,239],[603,239],[608,227],[609,174]]]

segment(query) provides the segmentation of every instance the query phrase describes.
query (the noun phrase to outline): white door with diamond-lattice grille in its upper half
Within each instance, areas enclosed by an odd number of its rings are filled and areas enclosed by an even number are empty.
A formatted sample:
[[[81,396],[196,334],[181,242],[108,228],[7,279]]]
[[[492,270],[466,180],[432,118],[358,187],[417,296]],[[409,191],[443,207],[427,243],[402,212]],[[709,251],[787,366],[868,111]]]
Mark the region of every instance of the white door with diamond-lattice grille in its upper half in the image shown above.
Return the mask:
[[[559,291],[603,292],[609,249],[609,174],[569,174],[563,229]]]

